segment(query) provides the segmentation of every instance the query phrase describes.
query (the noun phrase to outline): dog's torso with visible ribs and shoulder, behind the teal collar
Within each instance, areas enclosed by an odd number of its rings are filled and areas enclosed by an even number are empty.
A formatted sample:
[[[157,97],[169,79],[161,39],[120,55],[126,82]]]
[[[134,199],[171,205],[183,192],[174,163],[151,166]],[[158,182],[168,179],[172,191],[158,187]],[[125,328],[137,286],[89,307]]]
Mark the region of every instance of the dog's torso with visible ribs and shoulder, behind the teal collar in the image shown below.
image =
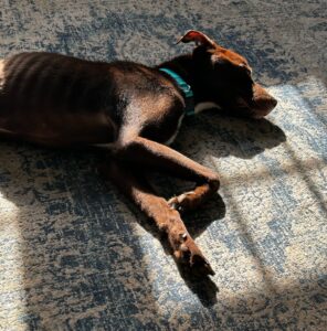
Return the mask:
[[[137,124],[166,141],[182,111],[175,90],[157,70],[133,62],[20,53],[0,65],[0,134],[48,146],[107,143]],[[160,115],[176,103],[180,111]]]

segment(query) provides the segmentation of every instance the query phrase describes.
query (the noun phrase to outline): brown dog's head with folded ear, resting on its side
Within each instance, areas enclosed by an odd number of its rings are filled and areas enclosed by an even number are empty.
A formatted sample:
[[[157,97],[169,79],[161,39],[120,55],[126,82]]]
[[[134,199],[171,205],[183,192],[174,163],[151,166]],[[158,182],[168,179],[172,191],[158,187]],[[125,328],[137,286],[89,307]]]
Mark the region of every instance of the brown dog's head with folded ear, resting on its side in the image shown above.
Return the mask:
[[[261,118],[277,100],[252,78],[252,68],[240,54],[226,50],[199,31],[188,31],[179,42],[196,42],[192,60],[197,102],[218,104],[232,115]]]

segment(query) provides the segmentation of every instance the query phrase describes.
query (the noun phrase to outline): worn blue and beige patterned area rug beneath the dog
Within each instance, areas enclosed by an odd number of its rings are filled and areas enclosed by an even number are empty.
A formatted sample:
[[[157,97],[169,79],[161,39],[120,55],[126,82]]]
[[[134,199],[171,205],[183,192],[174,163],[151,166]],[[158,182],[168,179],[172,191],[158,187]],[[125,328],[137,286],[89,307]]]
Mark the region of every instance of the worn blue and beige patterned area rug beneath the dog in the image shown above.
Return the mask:
[[[326,330],[326,15],[325,0],[1,0],[1,56],[157,64],[197,29],[245,55],[279,104],[264,120],[189,118],[173,146],[221,175],[184,217],[217,273],[201,282],[98,177],[99,154],[1,141],[0,329]]]

